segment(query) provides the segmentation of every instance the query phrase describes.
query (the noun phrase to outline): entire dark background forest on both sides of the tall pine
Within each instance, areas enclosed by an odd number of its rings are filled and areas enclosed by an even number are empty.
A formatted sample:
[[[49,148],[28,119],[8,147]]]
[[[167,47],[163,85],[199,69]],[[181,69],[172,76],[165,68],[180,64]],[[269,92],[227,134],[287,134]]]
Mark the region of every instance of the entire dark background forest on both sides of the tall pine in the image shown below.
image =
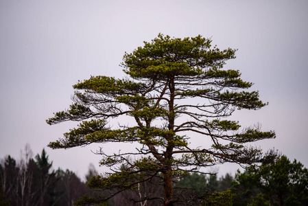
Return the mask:
[[[86,179],[97,174],[90,165]],[[161,181],[159,174],[155,181]],[[302,163],[290,161],[284,155],[270,165],[248,168],[244,172],[238,170],[235,176],[191,173],[179,181],[174,180],[173,184],[174,188],[194,189],[180,194],[187,198],[185,204],[175,205],[308,205],[308,170]],[[54,170],[44,149],[32,158],[29,146],[21,152],[21,159],[10,155],[1,159],[0,185],[0,205],[73,205],[78,204],[84,194],[93,196],[108,192],[89,189],[73,171]],[[161,187],[155,186],[153,181],[143,182],[134,190],[121,192],[96,205],[161,205],[156,200],[134,201],[154,193],[160,195]],[[200,197],[202,201],[192,201]]]

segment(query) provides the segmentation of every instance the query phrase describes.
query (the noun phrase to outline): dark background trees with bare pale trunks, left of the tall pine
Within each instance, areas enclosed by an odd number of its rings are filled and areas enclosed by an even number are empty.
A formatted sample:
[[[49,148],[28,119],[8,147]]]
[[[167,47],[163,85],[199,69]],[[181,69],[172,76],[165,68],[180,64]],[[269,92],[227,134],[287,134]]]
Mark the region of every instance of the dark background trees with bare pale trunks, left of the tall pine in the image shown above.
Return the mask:
[[[73,205],[90,190],[70,170],[52,170],[46,151],[32,158],[27,145],[16,161],[8,155],[0,164],[0,205]]]

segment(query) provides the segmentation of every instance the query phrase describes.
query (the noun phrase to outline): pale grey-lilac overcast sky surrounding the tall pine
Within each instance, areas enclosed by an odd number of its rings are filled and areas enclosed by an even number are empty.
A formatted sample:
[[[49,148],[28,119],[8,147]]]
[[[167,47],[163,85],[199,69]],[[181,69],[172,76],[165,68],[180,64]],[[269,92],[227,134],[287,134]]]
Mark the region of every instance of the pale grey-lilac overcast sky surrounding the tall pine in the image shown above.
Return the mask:
[[[49,126],[45,119],[71,104],[72,85],[90,76],[124,76],[124,52],[158,33],[198,34],[220,49],[239,49],[226,69],[239,69],[254,82],[260,111],[239,111],[232,119],[275,130],[276,139],[253,146],[276,148],[308,167],[308,1],[12,1],[0,0],[0,158],[19,159],[29,144],[34,155],[47,150],[58,167],[84,177],[97,170],[99,145],[51,150],[75,126]],[[191,140],[193,141],[193,140]],[[195,141],[198,144],[198,139]],[[128,144],[104,145],[109,151]],[[220,172],[235,172],[224,166]]]

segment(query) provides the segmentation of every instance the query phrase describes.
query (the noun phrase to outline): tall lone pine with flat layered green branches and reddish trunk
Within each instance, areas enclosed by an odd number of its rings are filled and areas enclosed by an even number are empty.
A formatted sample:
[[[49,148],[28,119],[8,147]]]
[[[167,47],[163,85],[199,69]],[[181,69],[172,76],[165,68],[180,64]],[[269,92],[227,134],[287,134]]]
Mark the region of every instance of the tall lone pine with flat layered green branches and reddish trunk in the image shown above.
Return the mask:
[[[226,119],[236,109],[257,110],[267,105],[258,91],[245,91],[251,82],[241,80],[238,70],[224,69],[235,58],[236,49],[220,50],[210,38],[171,38],[158,34],[132,53],[123,56],[123,79],[91,76],[73,85],[73,104],[47,119],[48,124],[80,122],[78,128],[49,144],[51,148],[73,148],[92,143],[137,142],[132,152],[115,151],[103,156],[102,165],[112,173],[93,177],[88,186],[109,190],[109,196],[85,196],[80,204],[100,203],[139,183],[160,177],[163,205],[180,200],[173,179],[202,172],[200,168],[225,162],[252,165],[273,161],[273,150],[265,154],[246,143],[275,137],[259,126],[240,129],[239,122]],[[119,126],[115,117],[130,117]],[[191,148],[189,139],[200,136],[212,146]],[[136,155],[136,158],[131,156]],[[123,167],[125,165],[125,167]]]

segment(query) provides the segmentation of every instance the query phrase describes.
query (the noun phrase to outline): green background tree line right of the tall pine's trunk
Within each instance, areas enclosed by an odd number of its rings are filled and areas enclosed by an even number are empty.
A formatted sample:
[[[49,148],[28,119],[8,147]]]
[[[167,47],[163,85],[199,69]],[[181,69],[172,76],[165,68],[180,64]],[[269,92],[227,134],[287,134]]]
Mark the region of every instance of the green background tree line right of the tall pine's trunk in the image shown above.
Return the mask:
[[[215,175],[191,174],[179,183],[192,186],[199,194],[209,190],[210,195],[200,205],[308,205],[308,170],[285,155],[259,168],[237,170],[235,176],[226,174],[217,179]]]

